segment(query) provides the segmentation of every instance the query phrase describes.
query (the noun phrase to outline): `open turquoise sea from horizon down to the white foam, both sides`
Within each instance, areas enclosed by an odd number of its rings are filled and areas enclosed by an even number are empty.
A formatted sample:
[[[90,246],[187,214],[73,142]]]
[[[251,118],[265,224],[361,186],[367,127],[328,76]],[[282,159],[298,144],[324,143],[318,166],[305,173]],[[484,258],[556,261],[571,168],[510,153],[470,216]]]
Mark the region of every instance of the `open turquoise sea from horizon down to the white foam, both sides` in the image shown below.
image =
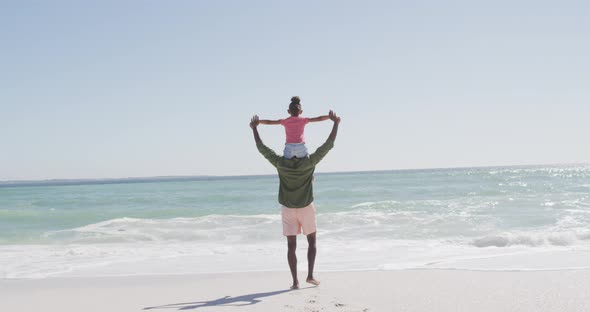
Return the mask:
[[[0,187],[0,243],[45,243],[48,232],[121,218],[276,214],[277,184],[276,176],[251,176]],[[431,222],[397,233],[410,238],[425,230],[470,235],[470,225],[482,223],[489,231],[556,227],[568,217],[572,226],[590,225],[590,168],[584,165],[318,174],[314,187],[319,213],[406,213]]]

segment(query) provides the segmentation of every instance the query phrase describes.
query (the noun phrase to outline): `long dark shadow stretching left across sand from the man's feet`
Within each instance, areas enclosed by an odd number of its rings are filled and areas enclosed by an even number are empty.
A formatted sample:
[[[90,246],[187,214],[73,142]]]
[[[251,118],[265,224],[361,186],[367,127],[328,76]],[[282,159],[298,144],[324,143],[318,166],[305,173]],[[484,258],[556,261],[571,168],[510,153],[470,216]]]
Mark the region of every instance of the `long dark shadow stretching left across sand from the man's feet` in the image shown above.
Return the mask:
[[[299,289],[301,291],[306,288]],[[196,301],[196,302],[184,302],[184,303],[173,303],[173,304],[166,304],[161,306],[155,307],[147,307],[143,308],[144,310],[152,310],[152,309],[178,309],[178,310],[192,310],[204,307],[215,307],[215,306],[247,306],[253,305],[256,303],[261,302],[260,298],[264,297],[271,297],[280,295],[282,293],[286,293],[289,291],[293,291],[291,289],[285,290],[277,290],[265,293],[255,293],[255,294],[248,294],[248,295],[241,295],[237,297],[232,296],[225,296],[219,299],[209,300],[209,301]]]

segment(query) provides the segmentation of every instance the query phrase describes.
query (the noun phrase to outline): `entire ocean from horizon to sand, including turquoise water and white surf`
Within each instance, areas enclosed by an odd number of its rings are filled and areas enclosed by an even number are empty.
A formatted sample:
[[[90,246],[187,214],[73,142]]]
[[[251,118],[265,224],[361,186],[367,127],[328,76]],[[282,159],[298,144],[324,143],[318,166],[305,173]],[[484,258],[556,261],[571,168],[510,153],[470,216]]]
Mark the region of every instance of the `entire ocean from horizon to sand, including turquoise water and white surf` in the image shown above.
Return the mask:
[[[276,175],[3,182],[0,278],[288,271],[277,192]],[[318,272],[590,267],[590,165],[317,173],[314,195]]]

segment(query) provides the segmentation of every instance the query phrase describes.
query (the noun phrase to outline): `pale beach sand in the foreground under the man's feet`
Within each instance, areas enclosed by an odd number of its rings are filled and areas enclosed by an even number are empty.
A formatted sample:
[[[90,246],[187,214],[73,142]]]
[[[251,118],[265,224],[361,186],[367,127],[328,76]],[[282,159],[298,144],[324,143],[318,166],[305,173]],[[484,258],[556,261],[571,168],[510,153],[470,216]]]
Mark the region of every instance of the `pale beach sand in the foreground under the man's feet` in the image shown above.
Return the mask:
[[[305,272],[301,272],[304,278]],[[284,272],[0,280],[0,311],[590,311],[590,270]]]

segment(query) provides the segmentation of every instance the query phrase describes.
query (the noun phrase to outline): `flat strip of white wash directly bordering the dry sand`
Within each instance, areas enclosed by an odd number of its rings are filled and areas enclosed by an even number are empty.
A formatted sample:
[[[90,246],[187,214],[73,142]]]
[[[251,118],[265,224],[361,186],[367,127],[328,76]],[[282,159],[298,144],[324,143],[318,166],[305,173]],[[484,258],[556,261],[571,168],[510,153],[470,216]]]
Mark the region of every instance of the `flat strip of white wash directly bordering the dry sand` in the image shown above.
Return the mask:
[[[300,266],[307,243],[298,241]],[[133,243],[0,246],[0,278],[195,274],[286,270],[286,243]],[[587,246],[486,247],[442,241],[318,241],[321,271],[399,270],[564,270],[590,268]]]

